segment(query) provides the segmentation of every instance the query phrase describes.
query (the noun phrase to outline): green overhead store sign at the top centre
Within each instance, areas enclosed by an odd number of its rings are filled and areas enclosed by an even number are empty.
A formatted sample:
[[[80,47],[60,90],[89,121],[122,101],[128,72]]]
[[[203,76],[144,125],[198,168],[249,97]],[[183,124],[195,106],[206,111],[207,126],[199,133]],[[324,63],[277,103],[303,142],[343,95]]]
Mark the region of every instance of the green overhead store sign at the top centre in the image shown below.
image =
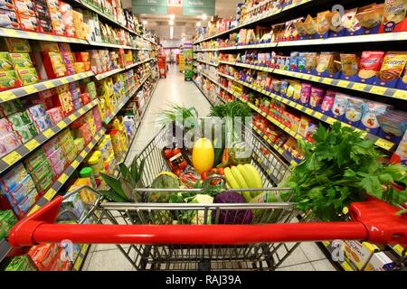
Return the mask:
[[[134,14],[215,14],[215,0],[132,0]]]

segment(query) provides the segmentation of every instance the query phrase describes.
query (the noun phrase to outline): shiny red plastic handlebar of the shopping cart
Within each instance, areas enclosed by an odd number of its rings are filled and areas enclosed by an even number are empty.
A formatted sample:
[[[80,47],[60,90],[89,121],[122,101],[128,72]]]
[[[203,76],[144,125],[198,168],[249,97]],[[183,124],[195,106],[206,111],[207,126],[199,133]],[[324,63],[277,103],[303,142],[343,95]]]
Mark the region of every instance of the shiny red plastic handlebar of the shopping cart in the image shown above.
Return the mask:
[[[210,244],[366,240],[407,245],[407,216],[381,200],[353,203],[353,221],[266,225],[69,225],[53,224],[62,203],[59,196],[20,220],[9,234],[15,247],[69,239],[78,244]]]

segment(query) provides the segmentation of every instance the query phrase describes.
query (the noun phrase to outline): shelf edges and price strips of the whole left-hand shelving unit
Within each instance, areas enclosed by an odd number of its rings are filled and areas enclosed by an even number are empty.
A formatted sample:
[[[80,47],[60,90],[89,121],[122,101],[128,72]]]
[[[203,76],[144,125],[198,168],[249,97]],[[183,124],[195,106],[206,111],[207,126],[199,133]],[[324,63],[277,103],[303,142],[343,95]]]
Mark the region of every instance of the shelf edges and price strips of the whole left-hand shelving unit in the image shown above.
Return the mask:
[[[112,27],[117,27],[124,29],[128,33],[135,35],[139,37],[136,42],[131,42],[130,45],[122,45],[118,43],[118,40],[115,39],[115,43],[109,43],[109,42],[92,42],[88,41],[85,39],[79,39],[75,37],[65,37],[65,36],[60,36],[52,33],[34,33],[34,32],[27,32],[23,30],[14,30],[14,29],[7,29],[7,28],[0,28],[0,37],[11,37],[11,38],[19,38],[19,39],[26,39],[26,40],[31,40],[31,41],[46,41],[46,42],[63,42],[63,43],[70,43],[73,44],[71,47],[72,51],[77,51],[76,49],[80,51],[86,51],[90,49],[118,49],[118,50],[131,50],[131,51],[156,51],[156,42],[152,41],[151,39],[148,39],[147,35],[143,35],[142,33],[137,33],[134,31],[131,31],[128,29],[125,25],[122,23],[118,23],[115,19],[113,19],[109,14],[105,14],[103,11],[101,11],[98,7],[95,7],[93,5],[90,5],[89,3],[85,2],[84,0],[66,0],[66,2],[70,5],[72,5],[74,8],[80,7],[83,10],[90,10],[96,14],[99,15],[99,21],[101,23],[109,23],[112,25]],[[141,39],[143,41],[141,41]],[[134,47],[133,47],[134,46]],[[133,52],[134,54],[134,52]],[[141,52],[139,53],[141,54]],[[33,85],[28,85],[28,86],[23,86],[15,89],[8,89],[0,92],[0,103],[5,103],[8,101],[13,101],[15,99],[19,98],[29,98],[33,94],[37,92],[41,92],[46,89],[53,89],[53,88],[58,88],[64,84],[71,83],[73,81],[77,81],[80,79],[93,79],[95,81],[100,80],[100,79],[106,79],[109,77],[112,77],[118,73],[124,72],[126,70],[131,70],[134,68],[137,68],[137,66],[140,66],[142,64],[145,64],[147,62],[151,62],[153,65],[151,66],[154,70],[154,64],[156,58],[154,58],[154,53],[148,53],[150,54],[150,58],[148,58],[146,61],[138,61],[137,63],[132,63],[130,65],[127,65],[126,67],[119,68],[117,70],[110,70],[106,71],[101,74],[95,74],[93,71],[87,71],[87,72],[81,72],[78,74],[62,77],[59,79],[43,79],[40,80],[40,82],[35,83]],[[140,59],[140,58],[138,58]],[[141,58],[144,59],[144,58]],[[120,112],[120,110],[126,106],[130,98],[133,98],[139,89],[142,89],[147,82],[147,79],[151,77],[153,74],[153,71],[149,70],[146,71],[147,73],[145,74],[145,78],[141,79],[140,81],[137,81],[137,86],[131,88],[129,91],[126,93],[126,98],[123,98],[120,102],[120,104],[116,107],[114,113],[106,117],[106,119],[102,120],[102,125],[109,125],[109,123],[112,121],[112,119],[117,116]],[[144,111],[140,119],[137,121],[136,125],[136,132],[135,135],[133,135],[133,138],[130,142],[130,146],[134,141],[135,136],[137,135],[137,129],[140,126],[141,119],[144,116],[147,106],[151,100],[151,97],[149,97],[147,105],[144,107]],[[47,143],[52,137],[56,137],[59,135],[65,128],[71,126],[73,122],[78,120],[80,117],[84,116],[86,113],[88,113],[92,108],[97,107],[100,104],[99,98],[93,99],[89,104],[80,107],[77,109],[75,112],[73,112],[70,116],[65,117],[62,121],[57,123],[55,126],[49,127],[45,129],[41,134],[34,136],[31,140],[26,142],[25,144],[20,145],[17,149],[15,149],[13,152],[4,155],[3,157],[0,158],[0,174],[7,172],[9,169],[11,169],[16,163],[23,161],[27,156],[32,154],[34,151],[40,149],[43,144]],[[93,135],[93,138],[91,139],[90,143],[85,146],[85,148],[81,151],[78,152],[77,157],[65,167],[64,171],[62,174],[54,180],[52,183],[51,188],[49,188],[45,193],[40,197],[39,200],[35,202],[35,204],[32,206],[32,208],[27,212],[27,215],[32,214],[34,211],[39,210],[43,205],[48,203],[50,200],[52,200],[53,197],[55,197],[57,194],[61,193],[63,188],[65,188],[68,183],[71,181],[71,178],[75,175],[75,172],[80,168],[80,164],[84,163],[84,161],[87,159],[87,157],[91,154],[92,150],[94,147],[99,143],[99,140],[105,135],[106,133],[106,128],[101,127],[99,132],[96,133],[96,135]],[[130,147],[128,147],[130,149]],[[128,152],[125,152],[125,155],[128,155]],[[125,157],[126,157],[125,156]],[[80,254],[79,256],[73,260],[73,266],[72,270],[80,270],[80,266],[89,250],[90,246],[81,246],[80,248]],[[14,248],[10,247],[10,245],[7,243],[6,238],[0,240],[0,262],[2,262],[5,258],[5,256],[13,256],[14,255]]]

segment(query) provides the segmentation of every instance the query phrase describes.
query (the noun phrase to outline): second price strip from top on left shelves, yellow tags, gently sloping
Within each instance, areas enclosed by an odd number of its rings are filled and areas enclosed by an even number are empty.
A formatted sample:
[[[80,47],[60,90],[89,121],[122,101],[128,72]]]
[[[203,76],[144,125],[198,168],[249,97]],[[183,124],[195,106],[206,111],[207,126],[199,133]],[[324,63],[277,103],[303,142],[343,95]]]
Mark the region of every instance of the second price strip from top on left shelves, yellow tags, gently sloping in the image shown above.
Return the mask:
[[[28,95],[36,93],[36,92],[40,92],[40,91],[43,91],[46,89],[56,88],[63,84],[70,83],[72,81],[89,78],[93,75],[94,74],[92,71],[81,72],[81,73],[66,76],[66,77],[63,77],[60,79],[43,80],[41,82],[31,84],[31,85],[26,85],[21,88],[5,90],[5,91],[0,92],[0,103],[14,100],[16,98],[23,98],[25,96],[28,96]]]

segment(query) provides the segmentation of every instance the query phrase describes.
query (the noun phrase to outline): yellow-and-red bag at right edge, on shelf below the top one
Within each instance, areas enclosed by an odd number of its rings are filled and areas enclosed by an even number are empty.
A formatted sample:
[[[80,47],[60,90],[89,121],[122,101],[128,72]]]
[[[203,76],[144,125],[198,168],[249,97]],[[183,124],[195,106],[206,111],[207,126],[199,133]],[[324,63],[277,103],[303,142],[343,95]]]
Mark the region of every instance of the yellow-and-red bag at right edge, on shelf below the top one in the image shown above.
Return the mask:
[[[379,72],[379,79],[381,81],[392,81],[400,78],[406,61],[407,51],[387,52]]]

